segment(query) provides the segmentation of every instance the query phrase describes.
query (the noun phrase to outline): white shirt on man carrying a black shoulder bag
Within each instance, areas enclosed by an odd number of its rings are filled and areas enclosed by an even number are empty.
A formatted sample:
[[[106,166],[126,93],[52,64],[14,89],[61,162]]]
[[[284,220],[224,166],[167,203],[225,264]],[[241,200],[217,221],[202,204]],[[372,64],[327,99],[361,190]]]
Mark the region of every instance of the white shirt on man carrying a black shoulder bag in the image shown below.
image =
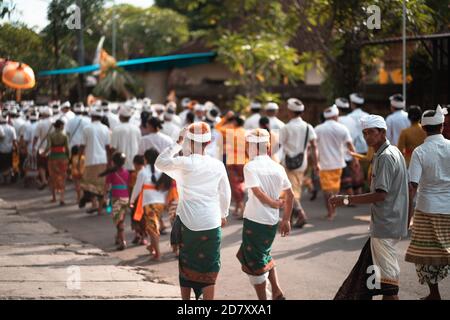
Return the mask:
[[[305,146],[306,128],[309,128],[308,139]],[[305,171],[308,166],[308,144],[317,139],[314,128],[307,122],[303,121],[301,117],[297,117],[289,121],[280,130],[280,144],[283,147],[284,156],[282,163],[284,164],[285,156],[294,157],[301,152],[304,152],[303,164],[295,169],[295,171]]]

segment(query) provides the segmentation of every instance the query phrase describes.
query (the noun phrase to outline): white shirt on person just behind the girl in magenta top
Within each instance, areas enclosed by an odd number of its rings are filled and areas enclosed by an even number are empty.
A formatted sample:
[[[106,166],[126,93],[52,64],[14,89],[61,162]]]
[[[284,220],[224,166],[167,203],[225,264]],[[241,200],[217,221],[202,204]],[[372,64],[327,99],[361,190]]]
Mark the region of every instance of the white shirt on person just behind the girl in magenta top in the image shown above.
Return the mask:
[[[133,158],[138,154],[141,130],[131,123],[121,123],[111,135],[111,147],[126,155],[125,169],[134,170]]]

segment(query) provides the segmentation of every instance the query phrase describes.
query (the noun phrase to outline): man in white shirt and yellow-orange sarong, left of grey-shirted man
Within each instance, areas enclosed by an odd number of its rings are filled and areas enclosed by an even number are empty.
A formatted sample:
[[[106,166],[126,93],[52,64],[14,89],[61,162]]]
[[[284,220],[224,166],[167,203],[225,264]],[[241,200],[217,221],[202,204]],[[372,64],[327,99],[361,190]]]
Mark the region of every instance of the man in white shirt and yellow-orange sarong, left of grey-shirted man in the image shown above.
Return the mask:
[[[345,152],[355,151],[348,129],[338,122],[339,109],[333,105],[323,113],[325,122],[316,128],[319,149],[320,185],[328,209],[326,219],[332,221],[336,216],[335,208],[328,200],[341,188],[342,169],[345,168]]]

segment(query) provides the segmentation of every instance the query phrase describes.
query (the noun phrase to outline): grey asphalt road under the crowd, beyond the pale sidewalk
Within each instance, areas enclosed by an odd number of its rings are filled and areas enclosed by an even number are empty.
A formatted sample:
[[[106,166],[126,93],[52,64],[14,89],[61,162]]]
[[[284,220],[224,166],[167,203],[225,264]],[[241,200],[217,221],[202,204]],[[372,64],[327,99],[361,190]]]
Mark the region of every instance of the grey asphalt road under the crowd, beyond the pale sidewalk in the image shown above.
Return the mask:
[[[143,246],[126,251],[114,251],[114,226],[109,216],[92,216],[78,209],[72,186],[68,187],[68,205],[61,208],[49,203],[48,191],[0,187],[1,197],[16,202],[21,214],[39,217],[74,238],[92,244],[120,259],[122,266],[141,267],[153,279],[163,283],[178,283],[177,261],[170,251],[169,236],[162,236],[161,262],[151,262]],[[309,214],[309,225],[294,230],[289,237],[277,236],[273,256],[277,263],[280,283],[288,299],[332,299],[342,281],[356,262],[368,238],[368,207],[339,209],[335,221],[321,220],[325,214],[323,200],[303,203]],[[127,238],[132,234],[127,221]],[[242,222],[229,219],[223,230],[222,269],[217,283],[217,298],[254,299],[248,278],[240,270],[235,254],[240,245]],[[398,245],[401,265],[401,299],[418,299],[427,290],[417,282],[414,266],[404,262],[408,240]],[[450,299],[450,277],[441,284],[442,297]]]

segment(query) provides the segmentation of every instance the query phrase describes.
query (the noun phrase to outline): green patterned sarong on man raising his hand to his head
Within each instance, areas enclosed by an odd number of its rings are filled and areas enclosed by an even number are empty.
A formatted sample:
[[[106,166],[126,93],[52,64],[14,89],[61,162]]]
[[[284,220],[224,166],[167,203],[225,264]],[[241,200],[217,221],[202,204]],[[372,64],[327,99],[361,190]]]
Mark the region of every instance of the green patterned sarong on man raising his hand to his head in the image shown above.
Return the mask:
[[[204,287],[216,284],[220,270],[221,239],[221,227],[192,231],[181,222],[178,258],[180,286],[194,289],[197,298]]]

